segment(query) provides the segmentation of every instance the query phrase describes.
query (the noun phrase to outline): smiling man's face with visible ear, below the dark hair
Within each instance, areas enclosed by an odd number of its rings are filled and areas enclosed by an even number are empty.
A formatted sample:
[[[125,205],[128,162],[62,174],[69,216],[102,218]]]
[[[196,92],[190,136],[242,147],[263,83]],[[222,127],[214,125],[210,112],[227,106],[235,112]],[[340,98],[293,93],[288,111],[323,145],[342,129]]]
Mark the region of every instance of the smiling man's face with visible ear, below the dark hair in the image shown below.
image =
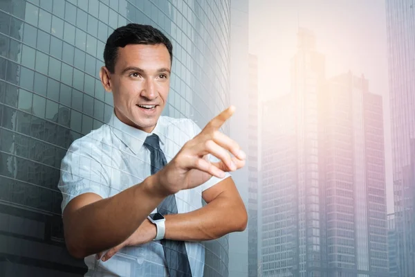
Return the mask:
[[[114,73],[100,72],[113,92],[117,117],[127,125],[151,132],[169,94],[171,61],[164,44],[128,44],[118,48]]]

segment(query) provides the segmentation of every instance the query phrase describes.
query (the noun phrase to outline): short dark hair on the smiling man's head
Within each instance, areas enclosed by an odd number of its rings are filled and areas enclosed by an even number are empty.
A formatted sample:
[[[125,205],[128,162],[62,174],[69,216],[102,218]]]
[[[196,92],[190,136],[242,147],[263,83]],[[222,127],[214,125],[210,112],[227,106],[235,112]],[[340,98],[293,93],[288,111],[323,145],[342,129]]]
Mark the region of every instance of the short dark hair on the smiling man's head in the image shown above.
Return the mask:
[[[173,62],[172,42],[160,30],[149,25],[130,23],[114,30],[107,39],[104,62],[109,72],[114,72],[118,47],[125,47],[127,44],[164,44],[169,51],[170,62]]]

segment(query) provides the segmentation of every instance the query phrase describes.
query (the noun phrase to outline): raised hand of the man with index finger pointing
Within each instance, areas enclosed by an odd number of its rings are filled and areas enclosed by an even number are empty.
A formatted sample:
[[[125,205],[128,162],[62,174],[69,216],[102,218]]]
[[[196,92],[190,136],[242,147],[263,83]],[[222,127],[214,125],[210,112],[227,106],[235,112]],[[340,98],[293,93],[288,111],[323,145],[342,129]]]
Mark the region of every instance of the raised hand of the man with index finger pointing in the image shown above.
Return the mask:
[[[210,120],[198,135],[183,145],[172,161],[156,173],[157,185],[163,194],[171,195],[179,190],[200,186],[212,176],[223,178],[225,172],[245,165],[246,154],[238,143],[219,132],[234,109],[230,106]],[[208,154],[218,158],[219,162],[210,163]]]

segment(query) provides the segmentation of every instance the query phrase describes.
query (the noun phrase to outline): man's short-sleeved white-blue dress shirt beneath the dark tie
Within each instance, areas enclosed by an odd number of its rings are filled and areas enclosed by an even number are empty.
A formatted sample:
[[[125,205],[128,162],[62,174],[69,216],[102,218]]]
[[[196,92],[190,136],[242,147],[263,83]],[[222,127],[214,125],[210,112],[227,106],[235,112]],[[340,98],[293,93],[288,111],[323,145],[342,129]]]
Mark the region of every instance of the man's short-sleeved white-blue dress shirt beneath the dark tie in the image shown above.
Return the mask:
[[[151,134],[159,136],[160,148],[169,162],[199,132],[200,127],[188,118],[160,116]],[[63,195],[62,212],[77,195],[96,193],[103,198],[111,197],[149,177],[150,152],[142,145],[149,135],[122,123],[113,113],[108,124],[74,141],[61,165],[58,187]],[[210,160],[217,161],[214,157]],[[226,173],[225,178],[229,176]],[[201,208],[203,190],[221,180],[212,177],[199,187],[176,193],[178,213]],[[192,276],[203,276],[203,243],[185,242],[185,246]],[[168,276],[163,246],[158,241],[124,247],[106,262],[96,260],[95,255],[84,260],[89,268],[85,276]]]

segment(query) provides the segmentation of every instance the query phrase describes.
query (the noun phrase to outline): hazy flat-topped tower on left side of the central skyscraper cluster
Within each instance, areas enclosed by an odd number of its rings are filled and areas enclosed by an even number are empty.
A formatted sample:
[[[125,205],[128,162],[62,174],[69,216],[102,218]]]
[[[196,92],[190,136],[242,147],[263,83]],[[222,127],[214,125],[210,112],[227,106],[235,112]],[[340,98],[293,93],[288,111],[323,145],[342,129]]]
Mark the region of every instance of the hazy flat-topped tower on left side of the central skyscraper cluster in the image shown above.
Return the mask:
[[[298,276],[295,102],[290,93],[263,102],[261,276]]]

